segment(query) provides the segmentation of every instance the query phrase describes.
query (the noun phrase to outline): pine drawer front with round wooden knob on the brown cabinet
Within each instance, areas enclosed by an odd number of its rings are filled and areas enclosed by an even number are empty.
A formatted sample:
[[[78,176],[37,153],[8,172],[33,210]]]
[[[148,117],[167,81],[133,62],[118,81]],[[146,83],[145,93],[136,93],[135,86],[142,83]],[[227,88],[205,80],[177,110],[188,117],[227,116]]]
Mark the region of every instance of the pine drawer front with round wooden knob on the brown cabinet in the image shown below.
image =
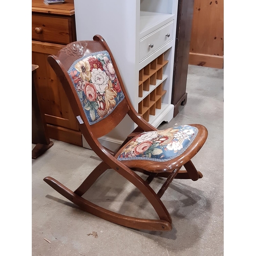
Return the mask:
[[[71,35],[69,17],[32,15],[32,40],[67,45]]]

